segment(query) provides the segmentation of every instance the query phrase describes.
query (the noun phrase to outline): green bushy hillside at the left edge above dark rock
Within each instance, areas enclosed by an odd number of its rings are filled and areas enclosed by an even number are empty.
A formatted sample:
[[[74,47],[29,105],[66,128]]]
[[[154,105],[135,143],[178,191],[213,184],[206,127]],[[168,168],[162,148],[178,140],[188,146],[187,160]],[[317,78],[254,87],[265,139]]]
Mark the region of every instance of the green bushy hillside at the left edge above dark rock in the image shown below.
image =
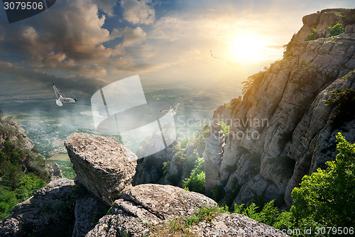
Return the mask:
[[[49,182],[43,157],[22,148],[21,134],[17,135],[16,141],[9,140],[9,136],[17,133],[6,124],[11,118],[3,120],[2,115],[0,111],[0,136],[6,140],[0,150],[0,220],[9,216],[16,204],[33,196],[36,190],[45,186],[45,182]]]

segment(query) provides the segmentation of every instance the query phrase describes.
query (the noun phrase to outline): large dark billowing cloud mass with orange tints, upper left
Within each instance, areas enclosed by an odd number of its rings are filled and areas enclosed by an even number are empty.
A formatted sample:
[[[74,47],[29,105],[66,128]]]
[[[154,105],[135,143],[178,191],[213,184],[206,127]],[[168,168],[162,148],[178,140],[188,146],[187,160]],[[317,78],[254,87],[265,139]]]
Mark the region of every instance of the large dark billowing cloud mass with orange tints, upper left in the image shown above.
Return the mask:
[[[114,6],[113,2],[99,4]],[[110,34],[103,28],[104,21],[105,16],[99,17],[97,4],[92,1],[58,1],[40,18],[2,24],[0,51],[23,57],[31,67],[63,68],[102,78],[107,75],[102,65],[112,54],[122,52],[104,47],[103,43],[123,35],[115,28]]]

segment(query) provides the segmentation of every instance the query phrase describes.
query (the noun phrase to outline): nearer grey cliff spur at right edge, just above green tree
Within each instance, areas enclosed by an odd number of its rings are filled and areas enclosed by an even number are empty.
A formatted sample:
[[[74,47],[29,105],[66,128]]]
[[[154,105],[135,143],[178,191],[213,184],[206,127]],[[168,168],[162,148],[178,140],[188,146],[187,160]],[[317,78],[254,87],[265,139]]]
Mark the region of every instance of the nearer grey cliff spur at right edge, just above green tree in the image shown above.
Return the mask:
[[[285,192],[285,202],[288,205],[292,204],[290,192],[297,187],[302,177],[315,172],[318,167],[325,168],[324,163],[335,158],[337,133],[342,132],[346,139],[354,143],[355,114],[348,114],[349,111],[339,109],[350,109],[355,102],[349,108],[326,105],[326,101],[332,99],[334,92],[346,89],[355,89],[355,70],[335,80],[320,92],[297,124],[288,150],[296,161],[293,176],[288,180]],[[301,149],[302,147],[307,149]]]

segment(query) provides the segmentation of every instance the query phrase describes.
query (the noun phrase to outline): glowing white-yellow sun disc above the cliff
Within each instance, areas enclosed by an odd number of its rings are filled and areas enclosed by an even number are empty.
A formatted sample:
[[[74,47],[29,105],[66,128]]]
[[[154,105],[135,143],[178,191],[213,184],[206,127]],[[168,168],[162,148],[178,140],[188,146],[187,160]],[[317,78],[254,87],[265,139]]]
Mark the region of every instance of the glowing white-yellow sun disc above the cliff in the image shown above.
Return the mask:
[[[266,42],[253,34],[236,35],[229,42],[232,62],[259,62],[264,59]]]

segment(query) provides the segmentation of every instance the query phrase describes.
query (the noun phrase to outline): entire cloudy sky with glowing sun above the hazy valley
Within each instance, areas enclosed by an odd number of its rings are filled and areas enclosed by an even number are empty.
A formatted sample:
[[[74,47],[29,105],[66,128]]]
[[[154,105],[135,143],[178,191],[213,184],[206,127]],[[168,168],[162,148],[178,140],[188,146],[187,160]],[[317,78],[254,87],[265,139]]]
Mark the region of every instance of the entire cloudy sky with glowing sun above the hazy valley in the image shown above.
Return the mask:
[[[132,75],[155,87],[240,84],[282,57],[302,16],[354,7],[296,2],[58,0],[15,23],[0,4],[0,101],[53,97],[53,82],[89,97]]]

